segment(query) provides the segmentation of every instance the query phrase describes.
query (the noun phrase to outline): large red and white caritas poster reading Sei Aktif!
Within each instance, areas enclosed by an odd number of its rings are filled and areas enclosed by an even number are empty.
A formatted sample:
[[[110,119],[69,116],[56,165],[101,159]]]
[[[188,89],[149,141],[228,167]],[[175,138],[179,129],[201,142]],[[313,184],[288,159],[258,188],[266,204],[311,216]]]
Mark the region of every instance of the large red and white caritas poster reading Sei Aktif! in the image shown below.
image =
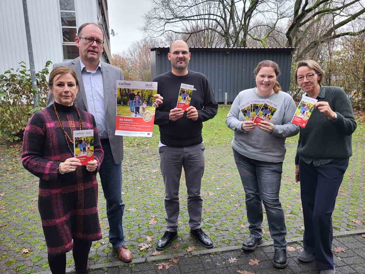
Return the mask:
[[[115,135],[152,137],[157,82],[116,81]]]

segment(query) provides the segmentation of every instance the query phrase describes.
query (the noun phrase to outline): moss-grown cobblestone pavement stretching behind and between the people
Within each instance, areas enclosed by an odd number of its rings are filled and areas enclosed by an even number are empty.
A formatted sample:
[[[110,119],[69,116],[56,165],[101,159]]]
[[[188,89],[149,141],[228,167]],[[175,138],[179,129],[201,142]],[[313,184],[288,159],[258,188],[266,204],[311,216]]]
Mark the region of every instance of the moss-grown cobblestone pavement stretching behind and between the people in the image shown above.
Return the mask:
[[[301,237],[304,229],[300,188],[293,178],[295,151],[295,145],[287,147],[280,191],[288,238]],[[354,142],[353,153],[333,214],[335,232],[365,229],[365,143]],[[122,196],[126,205],[123,220],[126,244],[134,259],[153,258],[156,239],[163,235],[166,225],[164,186],[158,150],[125,151],[124,159]],[[0,156],[0,160],[0,272],[33,273],[48,270],[46,244],[37,205],[38,178],[24,170],[18,154],[14,157]],[[161,255],[187,253],[189,247],[195,247],[195,251],[205,250],[189,236],[184,182],[183,172],[180,185],[179,237],[175,241],[177,245],[166,248]],[[240,245],[249,231],[245,194],[230,147],[205,149],[205,173],[201,191],[204,199],[203,229],[214,240],[215,248]],[[103,239],[92,245],[91,266],[119,261],[108,242],[109,227],[100,184],[99,218]],[[270,240],[265,215],[263,228],[264,238]],[[138,245],[141,243],[151,246],[139,250]],[[24,248],[31,250],[22,253]],[[268,265],[269,261],[265,264]],[[73,265],[72,252],[67,254],[67,265]]]

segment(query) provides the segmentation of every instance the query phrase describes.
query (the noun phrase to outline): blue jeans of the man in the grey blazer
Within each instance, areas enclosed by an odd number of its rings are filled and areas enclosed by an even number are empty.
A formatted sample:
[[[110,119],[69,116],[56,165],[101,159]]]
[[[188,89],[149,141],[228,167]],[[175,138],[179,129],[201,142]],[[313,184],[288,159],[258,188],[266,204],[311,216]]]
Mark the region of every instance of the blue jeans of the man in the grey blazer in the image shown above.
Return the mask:
[[[114,248],[124,245],[122,201],[122,164],[115,164],[108,139],[101,139],[104,160],[99,169],[101,186],[107,200],[109,241]]]

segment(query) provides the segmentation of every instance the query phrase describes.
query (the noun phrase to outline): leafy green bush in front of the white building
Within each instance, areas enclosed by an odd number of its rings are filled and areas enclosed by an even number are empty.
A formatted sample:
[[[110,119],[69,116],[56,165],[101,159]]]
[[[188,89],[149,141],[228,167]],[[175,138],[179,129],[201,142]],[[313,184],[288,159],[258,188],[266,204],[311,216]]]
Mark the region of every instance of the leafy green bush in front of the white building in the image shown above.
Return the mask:
[[[31,115],[46,106],[48,85],[46,75],[51,61],[35,74],[37,88],[32,88],[30,70],[24,62],[19,68],[8,69],[0,74],[0,138],[15,141],[23,137],[24,129]],[[38,95],[39,107],[33,107],[33,96]]]

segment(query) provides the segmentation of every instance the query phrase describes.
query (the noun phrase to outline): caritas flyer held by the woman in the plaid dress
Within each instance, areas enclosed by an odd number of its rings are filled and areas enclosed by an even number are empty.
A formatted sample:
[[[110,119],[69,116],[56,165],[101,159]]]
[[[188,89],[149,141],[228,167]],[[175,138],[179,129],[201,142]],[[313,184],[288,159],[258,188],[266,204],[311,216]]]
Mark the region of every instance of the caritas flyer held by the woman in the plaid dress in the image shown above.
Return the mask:
[[[74,156],[80,159],[82,165],[94,160],[94,130],[73,131]]]

